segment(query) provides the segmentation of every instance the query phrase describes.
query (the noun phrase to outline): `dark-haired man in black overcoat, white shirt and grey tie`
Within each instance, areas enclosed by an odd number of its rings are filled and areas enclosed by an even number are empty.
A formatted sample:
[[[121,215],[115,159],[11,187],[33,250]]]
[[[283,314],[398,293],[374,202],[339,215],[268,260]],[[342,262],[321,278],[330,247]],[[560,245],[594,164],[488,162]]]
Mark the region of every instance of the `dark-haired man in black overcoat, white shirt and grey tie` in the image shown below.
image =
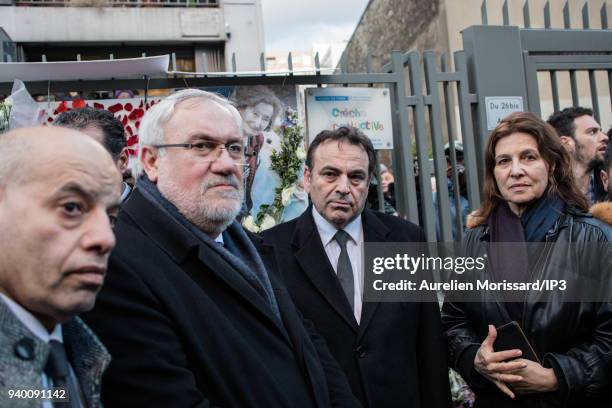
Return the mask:
[[[311,320],[365,407],[449,407],[437,303],[363,302],[364,242],[421,242],[422,230],[364,209],[376,156],[354,128],[310,144],[304,186],[312,205],[263,233],[289,292]]]

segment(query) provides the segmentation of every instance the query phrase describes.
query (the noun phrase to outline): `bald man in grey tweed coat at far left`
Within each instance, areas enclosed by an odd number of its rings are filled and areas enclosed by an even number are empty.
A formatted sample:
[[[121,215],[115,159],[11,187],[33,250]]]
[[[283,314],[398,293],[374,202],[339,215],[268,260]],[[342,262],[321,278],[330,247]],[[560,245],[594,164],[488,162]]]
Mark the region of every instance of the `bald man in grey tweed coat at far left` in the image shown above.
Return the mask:
[[[0,406],[98,407],[110,355],[78,318],[115,245],[121,177],[70,129],[0,135]]]

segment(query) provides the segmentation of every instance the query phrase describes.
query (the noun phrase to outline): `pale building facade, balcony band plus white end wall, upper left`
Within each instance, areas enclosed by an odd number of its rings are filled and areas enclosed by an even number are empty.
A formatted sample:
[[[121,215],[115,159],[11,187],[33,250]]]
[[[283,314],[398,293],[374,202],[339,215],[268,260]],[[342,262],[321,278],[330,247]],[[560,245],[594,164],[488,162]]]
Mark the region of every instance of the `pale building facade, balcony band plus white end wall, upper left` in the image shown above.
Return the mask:
[[[260,0],[227,0],[210,8],[0,7],[0,27],[21,44],[189,43],[196,46],[193,58],[199,71],[204,54],[209,71],[230,70],[232,53],[237,70],[259,70],[264,51]],[[222,52],[211,54],[205,47],[210,43],[223,44]]]

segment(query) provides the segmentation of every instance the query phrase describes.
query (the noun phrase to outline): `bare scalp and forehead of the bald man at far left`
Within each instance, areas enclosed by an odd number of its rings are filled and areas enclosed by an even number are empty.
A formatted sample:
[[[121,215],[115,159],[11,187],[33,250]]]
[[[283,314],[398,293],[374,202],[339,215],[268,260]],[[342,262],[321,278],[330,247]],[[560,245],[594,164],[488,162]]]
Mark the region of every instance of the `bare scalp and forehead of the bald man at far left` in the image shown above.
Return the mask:
[[[43,168],[83,162],[115,177],[114,166],[104,147],[83,133],[60,127],[11,130],[0,136],[0,187],[41,176]],[[44,174],[44,173],[43,173]]]

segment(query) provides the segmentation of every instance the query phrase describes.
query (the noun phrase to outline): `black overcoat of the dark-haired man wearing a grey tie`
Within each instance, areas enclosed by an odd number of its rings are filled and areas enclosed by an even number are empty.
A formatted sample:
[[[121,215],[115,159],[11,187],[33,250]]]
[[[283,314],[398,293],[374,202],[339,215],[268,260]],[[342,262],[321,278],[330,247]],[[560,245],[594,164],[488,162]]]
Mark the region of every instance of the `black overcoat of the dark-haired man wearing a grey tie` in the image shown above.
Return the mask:
[[[367,407],[449,407],[445,342],[437,303],[364,302],[358,325],[321,243],[312,207],[263,233],[304,318],[311,320]],[[422,242],[422,230],[364,210],[365,242]],[[365,274],[364,274],[365,276]]]

